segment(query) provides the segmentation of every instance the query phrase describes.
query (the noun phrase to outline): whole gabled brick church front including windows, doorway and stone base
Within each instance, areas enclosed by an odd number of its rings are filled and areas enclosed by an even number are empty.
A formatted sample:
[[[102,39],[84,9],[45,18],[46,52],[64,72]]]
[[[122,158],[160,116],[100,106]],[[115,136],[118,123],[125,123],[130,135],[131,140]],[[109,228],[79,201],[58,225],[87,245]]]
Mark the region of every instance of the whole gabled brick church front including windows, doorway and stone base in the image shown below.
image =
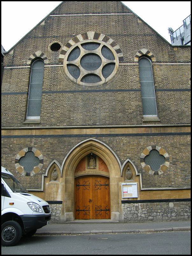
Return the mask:
[[[52,223],[190,219],[189,45],[120,1],[64,1],[3,65],[2,165]]]

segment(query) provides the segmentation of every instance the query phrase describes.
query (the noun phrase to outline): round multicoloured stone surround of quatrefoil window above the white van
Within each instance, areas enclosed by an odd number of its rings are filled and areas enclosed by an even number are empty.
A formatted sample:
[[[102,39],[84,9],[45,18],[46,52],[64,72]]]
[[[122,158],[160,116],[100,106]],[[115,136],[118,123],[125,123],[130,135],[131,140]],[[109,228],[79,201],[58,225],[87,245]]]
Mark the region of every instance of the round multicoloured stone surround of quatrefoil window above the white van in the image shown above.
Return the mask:
[[[34,155],[39,158],[39,164],[37,166],[35,166],[31,172],[26,172],[24,170],[23,166],[21,166],[19,164],[19,159],[22,156],[25,156],[25,153],[28,151],[32,151],[34,153]],[[33,147],[24,148],[21,151],[19,151],[19,153],[17,154],[17,156],[15,158],[15,168],[23,176],[33,176],[33,175],[37,174],[41,170],[42,167],[43,167],[43,155],[37,148],[33,148]]]

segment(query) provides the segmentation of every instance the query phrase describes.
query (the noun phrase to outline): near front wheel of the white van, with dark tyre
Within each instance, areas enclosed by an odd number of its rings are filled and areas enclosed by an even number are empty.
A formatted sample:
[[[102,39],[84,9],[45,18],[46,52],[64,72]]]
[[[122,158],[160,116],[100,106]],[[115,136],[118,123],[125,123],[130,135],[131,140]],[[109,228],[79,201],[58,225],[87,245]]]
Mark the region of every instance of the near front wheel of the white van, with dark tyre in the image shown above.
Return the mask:
[[[6,221],[1,225],[1,244],[3,246],[13,246],[17,244],[22,235],[22,229],[16,221]]]

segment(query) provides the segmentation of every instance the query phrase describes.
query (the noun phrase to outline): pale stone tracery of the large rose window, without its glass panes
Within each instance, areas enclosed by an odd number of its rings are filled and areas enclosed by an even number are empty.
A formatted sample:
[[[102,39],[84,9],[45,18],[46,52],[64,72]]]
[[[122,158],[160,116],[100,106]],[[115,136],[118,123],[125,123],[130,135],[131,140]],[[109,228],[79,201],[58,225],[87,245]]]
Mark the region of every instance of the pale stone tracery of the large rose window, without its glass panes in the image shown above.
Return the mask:
[[[89,42],[90,43],[93,43],[93,42],[100,43],[100,46],[96,50],[92,50],[92,51],[85,50],[81,46],[81,44],[89,43]],[[101,53],[101,49],[102,49],[103,45],[105,45],[107,48],[109,48],[111,50],[111,52],[113,53],[113,55],[115,57],[115,60],[108,60],[108,59],[103,57],[103,55]],[[76,60],[67,61],[68,55],[77,46],[81,50],[79,57]],[[101,60],[102,60],[101,66],[99,68],[97,68],[96,70],[86,70],[86,69],[82,68],[82,66],[80,64],[80,61],[81,61],[82,57],[85,54],[91,54],[91,53],[98,55],[101,58]],[[115,67],[114,67],[114,70],[112,71],[112,73],[110,74],[110,76],[108,76],[107,78],[104,78],[103,75],[102,75],[102,68],[106,64],[108,64],[108,63],[115,63]],[[73,76],[71,76],[71,74],[68,71],[67,64],[74,64],[74,65],[76,65],[80,69],[80,76],[77,79],[75,79]],[[95,86],[95,85],[101,85],[101,84],[104,84],[107,81],[109,81],[115,75],[115,73],[117,72],[118,65],[119,65],[119,58],[118,58],[117,53],[114,50],[114,48],[111,47],[109,44],[103,42],[103,41],[94,40],[94,39],[84,40],[84,41],[80,41],[80,42],[74,44],[72,47],[70,47],[70,49],[65,54],[65,58],[64,58],[64,61],[63,61],[64,70],[65,70],[66,74],[68,75],[68,77],[71,80],[75,81],[75,83],[77,83],[77,84],[86,85],[86,86],[90,86],[90,87],[91,86]],[[88,74],[95,74],[95,75],[99,76],[101,78],[101,81],[100,82],[96,82],[96,83],[84,83],[84,82],[81,82],[82,77],[84,77],[85,75],[88,75]]]

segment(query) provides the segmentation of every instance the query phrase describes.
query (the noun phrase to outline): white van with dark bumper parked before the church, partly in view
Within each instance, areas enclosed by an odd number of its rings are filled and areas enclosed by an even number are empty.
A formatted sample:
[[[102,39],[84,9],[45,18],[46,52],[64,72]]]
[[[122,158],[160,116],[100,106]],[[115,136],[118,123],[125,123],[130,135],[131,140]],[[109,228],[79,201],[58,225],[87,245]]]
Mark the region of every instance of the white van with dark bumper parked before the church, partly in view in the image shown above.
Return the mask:
[[[51,220],[49,204],[30,194],[1,167],[1,244],[12,246],[21,236],[32,236]]]

